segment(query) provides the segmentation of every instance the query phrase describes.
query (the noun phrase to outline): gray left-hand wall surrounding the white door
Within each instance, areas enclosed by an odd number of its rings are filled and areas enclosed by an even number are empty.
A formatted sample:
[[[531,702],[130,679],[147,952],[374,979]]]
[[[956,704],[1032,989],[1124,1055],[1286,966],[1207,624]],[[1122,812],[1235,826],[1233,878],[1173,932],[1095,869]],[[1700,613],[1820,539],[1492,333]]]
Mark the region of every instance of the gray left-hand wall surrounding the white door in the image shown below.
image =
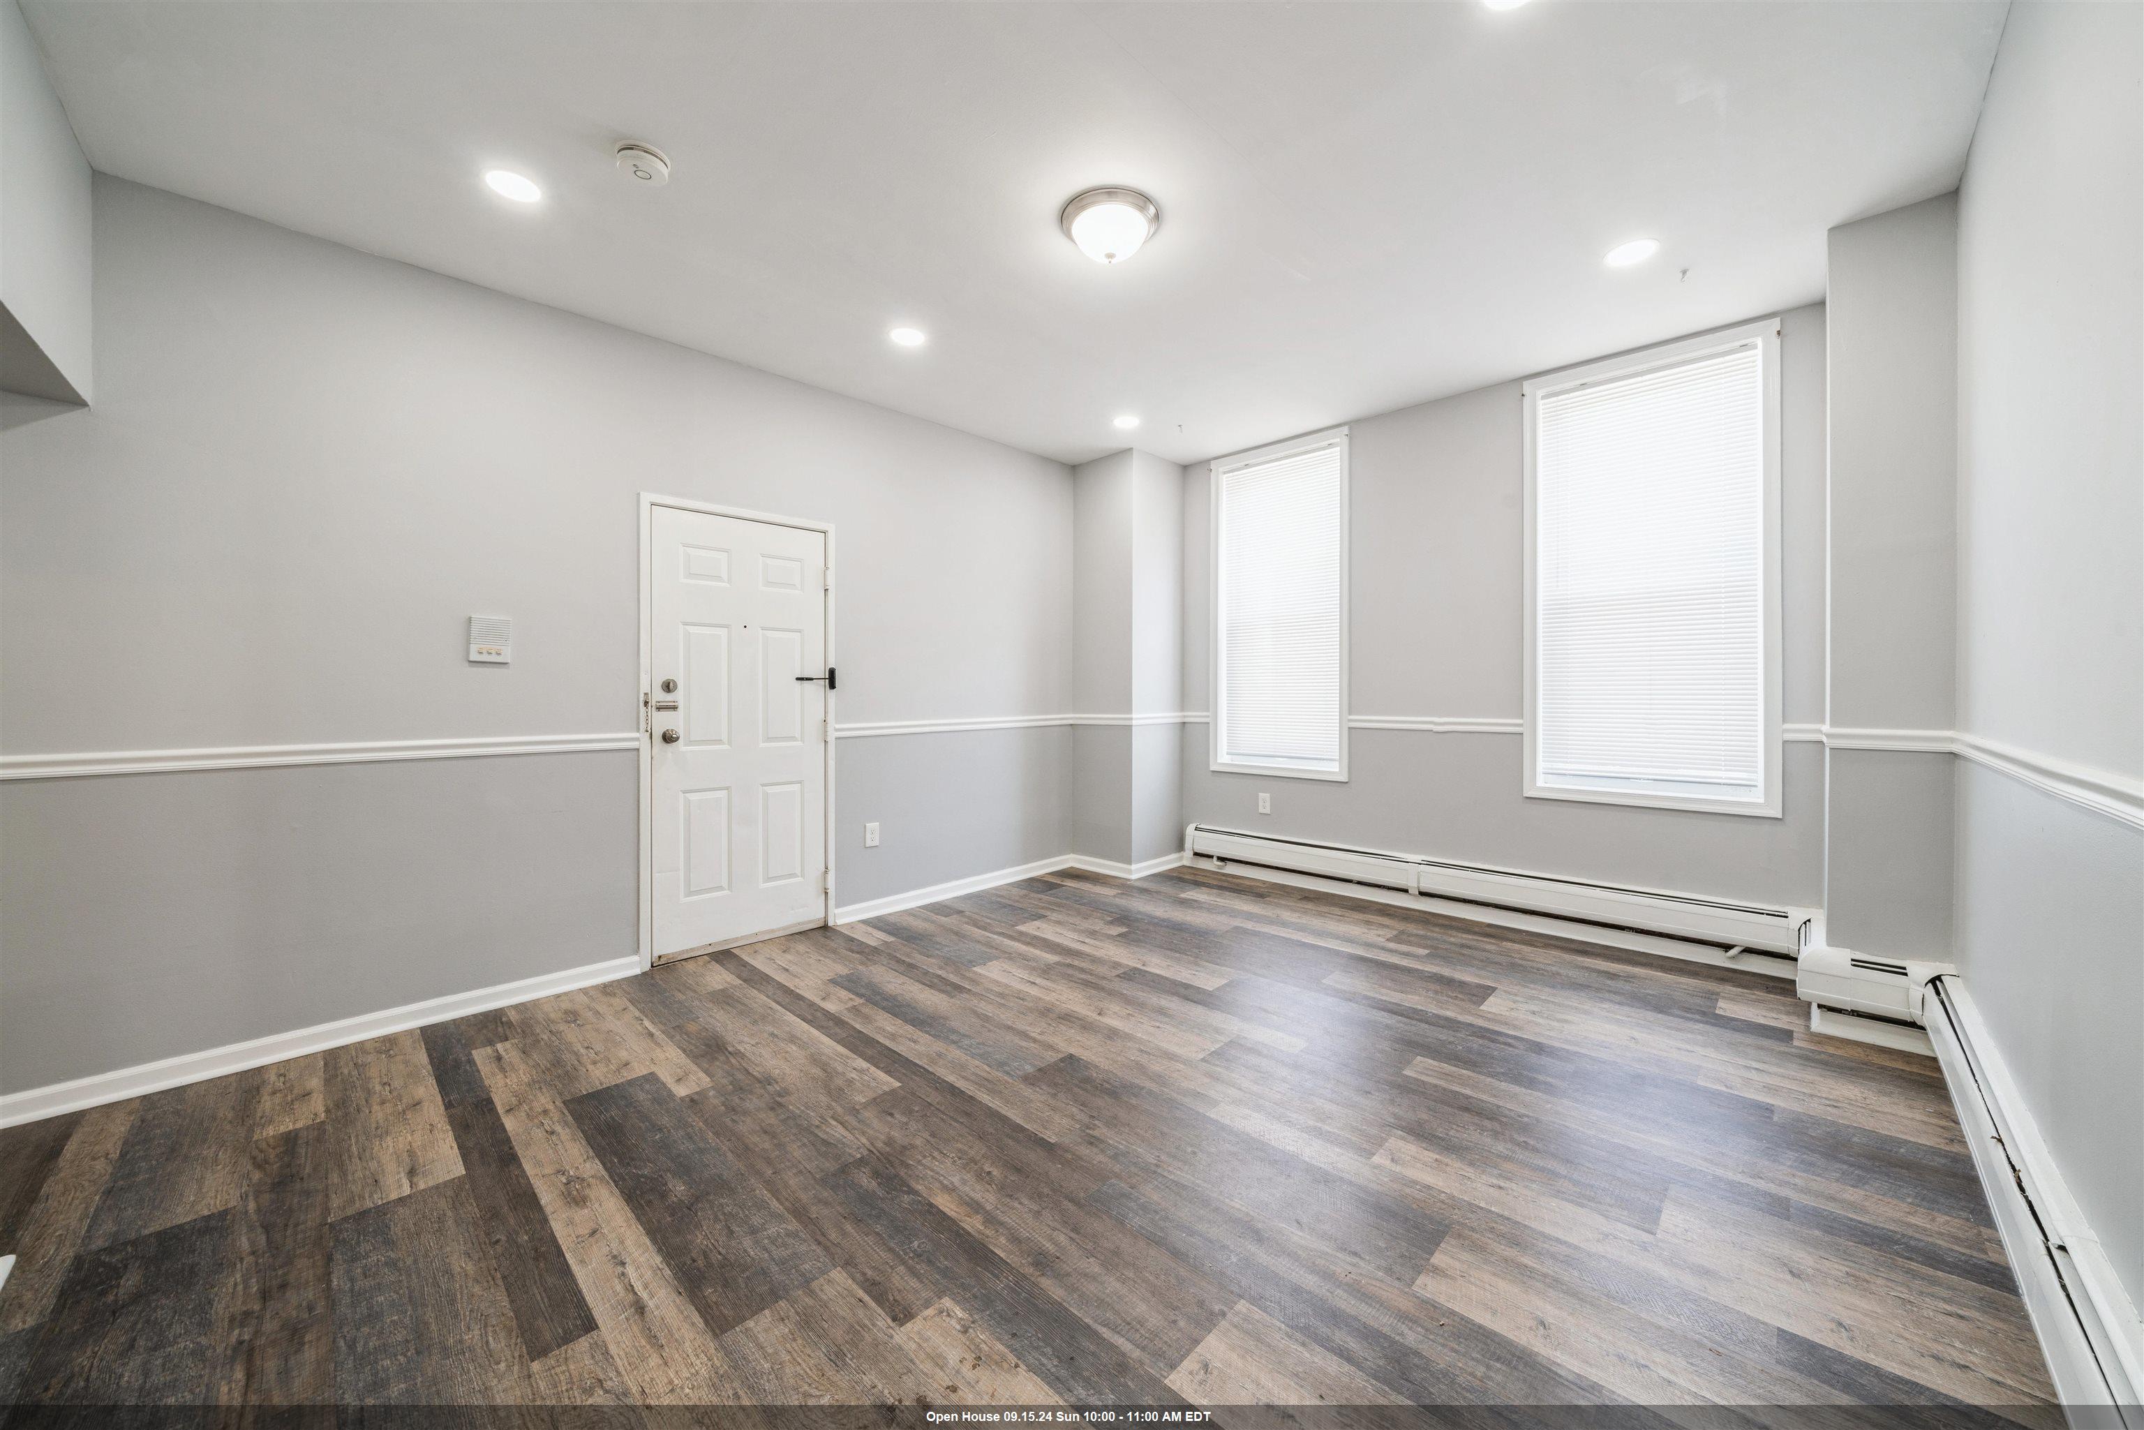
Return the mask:
[[[9,755],[630,731],[643,489],[836,523],[840,723],[1068,707],[1063,465],[94,193],[96,407],[0,433]],[[510,667],[463,660],[472,611],[515,617]],[[1063,853],[1063,746],[843,740],[840,903]],[[0,1089],[628,956],[632,783],[630,755],[11,780]],[[527,915],[448,918],[470,888]]]

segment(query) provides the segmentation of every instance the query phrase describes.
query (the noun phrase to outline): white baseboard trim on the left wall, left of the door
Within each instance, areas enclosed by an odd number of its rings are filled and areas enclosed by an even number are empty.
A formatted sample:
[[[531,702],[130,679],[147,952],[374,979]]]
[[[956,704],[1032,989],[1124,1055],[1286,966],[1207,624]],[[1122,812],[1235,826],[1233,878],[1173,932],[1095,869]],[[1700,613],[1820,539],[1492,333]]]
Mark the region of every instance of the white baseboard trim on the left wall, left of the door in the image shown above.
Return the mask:
[[[641,960],[628,954],[626,958],[607,958],[605,963],[587,963],[577,969],[560,969],[557,973],[538,973],[536,978],[521,978],[510,984],[493,984],[489,988],[472,988],[467,993],[448,993],[446,997],[425,999],[422,1003],[384,1008],[379,1012],[358,1014],[356,1018],[317,1023],[289,1033],[270,1033],[268,1038],[232,1042],[202,1053],[180,1053],[178,1057],[165,1057],[135,1068],[118,1068],[114,1072],[99,1072],[94,1076],[75,1078],[73,1083],[32,1087],[30,1091],[0,1098],[0,1128],[13,1128],[19,1121],[36,1121],[39,1117],[58,1117],[60,1113],[77,1113],[86,1106],[120,1102],[122,1098],[142,1098],[146,1093],[180,1087],[184,1083],[206,1083],[208,1078],[244,1072],[247,1068],[279,1063],[287,1057],[304,1057],[307,1053],[341,1048],[352,1042],[364,1042],[367,1038],[382,1038],[386,1033],[425,1027],[427,1023],[446,1023],[448,1018],[461,1018],[472,1012],[506,1008],[508,1003],[527,1003],[530,999],[551,997],[553,993],[570,993],[592,984],[607,984],[613,978],[628,978],[639,971]]]

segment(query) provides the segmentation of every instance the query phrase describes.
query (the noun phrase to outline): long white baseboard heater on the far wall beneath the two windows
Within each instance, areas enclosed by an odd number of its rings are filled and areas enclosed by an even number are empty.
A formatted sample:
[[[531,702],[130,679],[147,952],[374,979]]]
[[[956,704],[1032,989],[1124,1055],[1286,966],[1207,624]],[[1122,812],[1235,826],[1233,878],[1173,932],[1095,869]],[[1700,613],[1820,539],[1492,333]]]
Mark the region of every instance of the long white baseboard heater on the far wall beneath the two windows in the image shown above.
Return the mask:
[[[1814,909],[1786,905],[1745,905],[1668,890],[1644,890],[1589,879],[1559,879],[1490,864],[1456,864],[1415,853],[1355,849],[1306,838],[1276,838],[1194,823],[1186,830],[1183,851],[1280,868],[1323,879],[1344,879],[1372,888],[1404,890],[1424,898],[1542,913],[1548,918],[1629,928],[1636,933],[1747,948],[1792,958],[1810,937]]]

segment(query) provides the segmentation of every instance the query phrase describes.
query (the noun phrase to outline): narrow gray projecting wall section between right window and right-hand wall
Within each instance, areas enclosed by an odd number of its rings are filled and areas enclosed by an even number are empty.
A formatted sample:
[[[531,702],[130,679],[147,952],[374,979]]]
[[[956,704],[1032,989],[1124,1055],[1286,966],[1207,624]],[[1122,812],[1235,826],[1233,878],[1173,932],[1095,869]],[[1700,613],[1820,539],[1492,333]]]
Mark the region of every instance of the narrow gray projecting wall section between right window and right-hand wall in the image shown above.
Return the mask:
[[[1840,748],[1949,731],[1957,684],[1957,197],[1829,234],[1827,941],[1951,956],[1951,755]]]

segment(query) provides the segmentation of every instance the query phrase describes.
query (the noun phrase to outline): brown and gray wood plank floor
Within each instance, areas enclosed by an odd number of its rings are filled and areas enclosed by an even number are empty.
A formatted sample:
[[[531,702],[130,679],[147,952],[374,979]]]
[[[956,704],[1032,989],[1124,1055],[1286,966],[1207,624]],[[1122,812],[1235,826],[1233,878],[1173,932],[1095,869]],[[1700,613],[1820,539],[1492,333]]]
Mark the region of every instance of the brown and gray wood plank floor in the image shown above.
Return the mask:
[[[1934,1063],[1801,1018],[1029,879],[0,1134],[0,1402],[2058,1424]]]

